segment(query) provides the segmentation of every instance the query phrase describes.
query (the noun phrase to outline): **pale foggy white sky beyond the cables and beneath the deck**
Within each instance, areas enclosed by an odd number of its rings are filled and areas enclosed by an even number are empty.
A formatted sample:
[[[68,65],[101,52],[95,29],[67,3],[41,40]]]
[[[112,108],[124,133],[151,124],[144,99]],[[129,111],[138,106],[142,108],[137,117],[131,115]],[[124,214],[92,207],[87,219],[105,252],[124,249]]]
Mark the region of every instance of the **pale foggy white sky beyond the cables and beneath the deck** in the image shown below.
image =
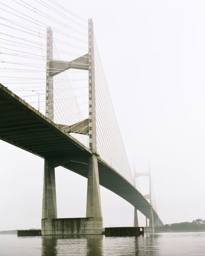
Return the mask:
[[[150,161],[162,222],[205,219],[205,2],[61,5],[93,19],[130,167],[146,172]],[[3,141],[0,156],[0,230],[40,227],[43,159]],[[146,194],[148,180],[138,179]],[[57,167],[58,218],[85,217],[86,191],[86,178]],[[133,206],[102,186],[100,193],[104,227],[133,226]],[[145,217],[138,217],[145,226]]]

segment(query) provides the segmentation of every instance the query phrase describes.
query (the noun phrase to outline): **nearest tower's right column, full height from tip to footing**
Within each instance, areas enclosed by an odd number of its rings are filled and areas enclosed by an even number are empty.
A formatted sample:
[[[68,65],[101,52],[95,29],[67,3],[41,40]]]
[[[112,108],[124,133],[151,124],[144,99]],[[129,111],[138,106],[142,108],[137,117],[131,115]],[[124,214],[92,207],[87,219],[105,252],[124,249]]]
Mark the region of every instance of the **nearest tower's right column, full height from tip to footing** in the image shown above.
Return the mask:
[[[102,218],[100,184],[97,166],[96,147],[96,111],[95,111],[95,66],[94,66],[94,32],[92,19],[88,20],[89,34],[89,148],[92,156],[89,158],[87,175],[87,207],[86,217]]]

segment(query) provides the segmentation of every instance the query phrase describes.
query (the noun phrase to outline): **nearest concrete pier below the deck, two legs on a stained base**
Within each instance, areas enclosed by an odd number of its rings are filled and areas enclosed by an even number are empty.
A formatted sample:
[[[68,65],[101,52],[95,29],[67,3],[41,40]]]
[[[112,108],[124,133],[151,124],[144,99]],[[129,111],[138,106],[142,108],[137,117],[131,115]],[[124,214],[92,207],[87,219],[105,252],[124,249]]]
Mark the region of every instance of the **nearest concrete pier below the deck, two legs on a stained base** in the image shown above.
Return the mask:
[[[76,157],[45,158],[43,182],[42,235],[102,234],[103,218],[100,199],[100,184],[97,156],[89,157],[87,175],[86,218],[57,219],[55,169]],[[78,157],[78,161],[83,159]]]

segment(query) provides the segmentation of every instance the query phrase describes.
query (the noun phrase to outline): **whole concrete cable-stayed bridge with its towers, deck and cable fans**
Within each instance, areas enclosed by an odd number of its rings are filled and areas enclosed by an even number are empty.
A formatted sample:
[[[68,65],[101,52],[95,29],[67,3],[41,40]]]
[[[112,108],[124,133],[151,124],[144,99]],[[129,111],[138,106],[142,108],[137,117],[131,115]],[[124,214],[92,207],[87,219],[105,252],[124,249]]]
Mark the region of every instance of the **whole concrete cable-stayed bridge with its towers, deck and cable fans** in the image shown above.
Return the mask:
[[[92,19],[54,0],[12,1],[0,5],[0,139],[44,158],[42,234],[101,233],[99,185],[135,207],[134,226],[137,210],[162,226],[150,175],[149,195],[135,187]],[[57,218],[57,166],[87,177],[86,218]]]

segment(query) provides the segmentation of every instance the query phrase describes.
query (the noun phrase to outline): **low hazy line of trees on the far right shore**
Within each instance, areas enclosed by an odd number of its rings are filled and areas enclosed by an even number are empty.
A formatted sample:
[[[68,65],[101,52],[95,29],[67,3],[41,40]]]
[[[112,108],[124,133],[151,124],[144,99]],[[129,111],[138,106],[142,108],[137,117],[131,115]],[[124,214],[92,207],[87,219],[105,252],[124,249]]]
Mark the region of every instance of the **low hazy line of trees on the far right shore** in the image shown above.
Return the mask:
[[[205,220],[202,221],[202,219],[196,219],[192,222],[165,224],[162,227],[155,227],[154,231],[157,233],[205,231]]]

